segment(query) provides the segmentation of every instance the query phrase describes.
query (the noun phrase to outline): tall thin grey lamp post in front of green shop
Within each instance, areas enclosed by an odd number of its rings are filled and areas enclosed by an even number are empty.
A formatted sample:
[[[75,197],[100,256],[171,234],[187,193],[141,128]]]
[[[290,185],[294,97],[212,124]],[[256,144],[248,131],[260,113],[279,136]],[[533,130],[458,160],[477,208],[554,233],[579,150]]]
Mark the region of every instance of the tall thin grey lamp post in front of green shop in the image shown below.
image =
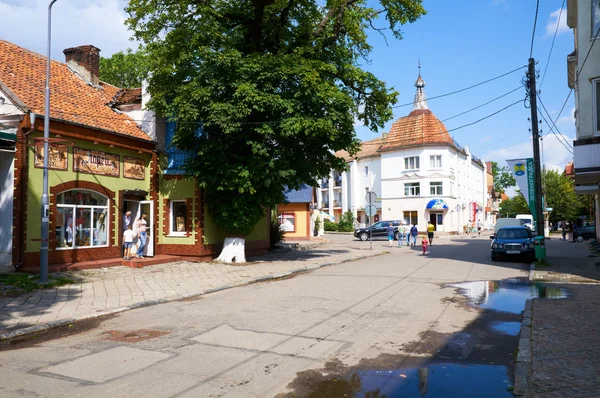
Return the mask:
[[[48,200],[48,140],[50,138],[50,42],[52,36],[52,6],[48,5],[48,52],[46,56],[46,92],[44,98],[44,178],[42,185],[42,236],[40,247],[40,283],[48,282],[48,238],[50,206]]]

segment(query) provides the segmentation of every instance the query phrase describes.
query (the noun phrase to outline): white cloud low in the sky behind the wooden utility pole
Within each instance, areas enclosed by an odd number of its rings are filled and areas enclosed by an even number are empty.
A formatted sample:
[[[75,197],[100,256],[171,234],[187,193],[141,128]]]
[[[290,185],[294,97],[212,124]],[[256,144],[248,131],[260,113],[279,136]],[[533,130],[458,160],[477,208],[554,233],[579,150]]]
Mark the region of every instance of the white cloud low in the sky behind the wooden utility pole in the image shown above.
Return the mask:
[[[564,135],[564,134],[563,134]],[[573,137],[564,135],[570,145],[573,145]],[[566,144],[565,144],[566,145]],[[563,171],[568,162],[573,161],[573,155],[558,138],[550,133],[543,139],[542,156],[543,164],[549,170]],[[569,148],[570,149],[570,148]],[[572,151],[572,149],[571,149]],[[531,158],[533,157],[533,145],[531,139],[519,144],[495,149],[485,154],[484,159],[498,162],[500,167],[506,166],[507,159]]]

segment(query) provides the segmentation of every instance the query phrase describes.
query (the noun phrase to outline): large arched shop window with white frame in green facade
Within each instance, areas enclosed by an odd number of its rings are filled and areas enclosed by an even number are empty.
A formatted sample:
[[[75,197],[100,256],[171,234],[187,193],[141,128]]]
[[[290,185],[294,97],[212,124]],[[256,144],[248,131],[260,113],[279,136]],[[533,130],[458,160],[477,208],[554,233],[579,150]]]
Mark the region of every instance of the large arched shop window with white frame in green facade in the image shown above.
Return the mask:
[[[110,239],[108,198],[94,191],[72,190],[56,197],[56,247],[106,247]]]

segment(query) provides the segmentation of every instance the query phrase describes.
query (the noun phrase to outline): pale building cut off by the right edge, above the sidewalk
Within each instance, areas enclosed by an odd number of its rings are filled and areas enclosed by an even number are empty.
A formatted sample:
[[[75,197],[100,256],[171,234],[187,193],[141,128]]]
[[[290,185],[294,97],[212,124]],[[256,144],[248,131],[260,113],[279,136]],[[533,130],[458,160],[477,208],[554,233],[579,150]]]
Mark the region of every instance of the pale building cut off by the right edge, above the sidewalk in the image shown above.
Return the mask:
[[[575,51],[567,58],[575,92],[575,190],[594,195],[600,236],[600,0],[568,0],[567,24],[575,37]]]

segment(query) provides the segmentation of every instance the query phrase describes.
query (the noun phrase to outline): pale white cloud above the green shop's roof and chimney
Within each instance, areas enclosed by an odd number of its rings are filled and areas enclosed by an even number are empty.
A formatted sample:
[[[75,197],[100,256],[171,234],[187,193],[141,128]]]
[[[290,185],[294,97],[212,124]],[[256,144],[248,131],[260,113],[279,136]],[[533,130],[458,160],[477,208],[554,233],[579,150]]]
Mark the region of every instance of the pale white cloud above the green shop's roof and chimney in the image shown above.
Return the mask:
[[[0,0],[0,38],[46,53],[48,0]],[[125,26],[126,0],[60,0],[52,7],[52,58],[65,48],[92,44],[108,57],[137,43]]]

